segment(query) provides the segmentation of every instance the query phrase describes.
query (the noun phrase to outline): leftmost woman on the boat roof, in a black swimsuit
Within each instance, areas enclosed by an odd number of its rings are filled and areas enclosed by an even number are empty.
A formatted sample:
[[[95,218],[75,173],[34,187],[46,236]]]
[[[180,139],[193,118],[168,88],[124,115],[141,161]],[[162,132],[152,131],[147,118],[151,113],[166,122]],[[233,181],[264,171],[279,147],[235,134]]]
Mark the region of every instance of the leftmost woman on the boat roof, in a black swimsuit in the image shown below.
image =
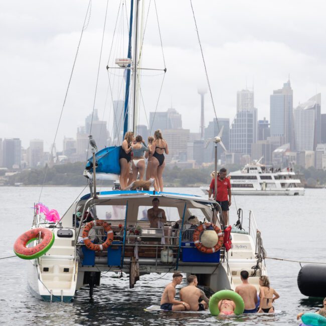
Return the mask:
[[[127,131],[124,135],[124,140],[120,147],[119,153],[119,163],[120,163],[120,186],[121,190],[124,190],[128,184],[129,177],[129,161],[131,160],[131,150],[132,150],[132,137],[133,133]]]

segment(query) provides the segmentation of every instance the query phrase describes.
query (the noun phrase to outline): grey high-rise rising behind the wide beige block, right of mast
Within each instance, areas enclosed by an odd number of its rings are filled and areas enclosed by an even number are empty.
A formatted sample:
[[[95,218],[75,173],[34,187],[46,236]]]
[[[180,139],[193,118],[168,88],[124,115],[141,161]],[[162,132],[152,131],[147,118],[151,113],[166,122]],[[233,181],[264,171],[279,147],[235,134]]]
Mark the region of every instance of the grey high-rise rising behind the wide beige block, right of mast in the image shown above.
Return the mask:
[[[149,112],[149,131],[151,134],[155,130],[181,129],[182,117],[176,109],[170,108],[165,112]]]

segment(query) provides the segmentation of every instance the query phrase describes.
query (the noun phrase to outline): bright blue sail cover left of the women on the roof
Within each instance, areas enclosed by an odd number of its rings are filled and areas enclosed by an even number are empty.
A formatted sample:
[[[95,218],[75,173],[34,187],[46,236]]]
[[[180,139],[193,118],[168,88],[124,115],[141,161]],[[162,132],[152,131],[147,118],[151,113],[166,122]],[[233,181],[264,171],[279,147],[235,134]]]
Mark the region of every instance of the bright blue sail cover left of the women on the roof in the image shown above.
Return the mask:
[[[96,173],[120,174],[119,152],[121,146],[105,147],[95,154]],[[93,172],[93,156],[88,158],[86,169]]]

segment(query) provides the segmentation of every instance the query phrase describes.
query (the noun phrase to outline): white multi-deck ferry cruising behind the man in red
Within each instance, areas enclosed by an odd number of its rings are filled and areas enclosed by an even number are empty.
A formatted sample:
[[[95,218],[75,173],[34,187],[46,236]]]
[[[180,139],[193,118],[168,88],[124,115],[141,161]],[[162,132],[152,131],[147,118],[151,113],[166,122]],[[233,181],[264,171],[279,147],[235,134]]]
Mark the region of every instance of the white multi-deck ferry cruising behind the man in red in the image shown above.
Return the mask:
[[[304,195],[300,180],[292,169],[274,169],[259,163],[247,164],[229,174],[234,195]],[[209,187],[201,187],[208,195]]]

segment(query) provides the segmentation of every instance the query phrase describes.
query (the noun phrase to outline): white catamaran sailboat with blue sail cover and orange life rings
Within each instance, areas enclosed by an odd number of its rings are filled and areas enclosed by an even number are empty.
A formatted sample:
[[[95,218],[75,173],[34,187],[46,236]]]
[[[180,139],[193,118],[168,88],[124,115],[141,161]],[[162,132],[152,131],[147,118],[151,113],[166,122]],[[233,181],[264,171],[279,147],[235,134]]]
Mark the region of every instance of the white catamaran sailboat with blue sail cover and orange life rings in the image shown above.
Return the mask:
[[[128,97],[131,89],[130,108],[134,109],[140,69],[139,24],[139,0],[131,0],[128,56],[116,61],[126,70],[124,131],[135,128],[134,112],[132,123],[128,123]],[[214,140],[216,146],[218,138]],[[73,202],[58,221],[44,218],[37,205],[32,228],[15,243],[16,254],[29,260],[28,281],[34,295],[47,301],[69,302],[85,284],[89,284],[92,295],[94,286],[100,289],[101,273],[108,271],[128,274],[130,287],[136,286],[140,275],[152,272],[195,273],[199,284],[218,291],[234,290],[241,282],[241,270],[247,269],[251,283],[258,288],[259,276],[266,275],[267,270],[252,211],[245,231],[240,216],[238,228],[224,225],[221,207],[207,197],[140,190],[97,191],[100,174],[119,174],[119,146],[96,151],[93,144],[91,150],[84,172],[90,192]],[[167,216],[167,221],[156,228],[150,227],[146,214],[153,199],[159,200]],[[197,224],[190,223],[194,217]]]

